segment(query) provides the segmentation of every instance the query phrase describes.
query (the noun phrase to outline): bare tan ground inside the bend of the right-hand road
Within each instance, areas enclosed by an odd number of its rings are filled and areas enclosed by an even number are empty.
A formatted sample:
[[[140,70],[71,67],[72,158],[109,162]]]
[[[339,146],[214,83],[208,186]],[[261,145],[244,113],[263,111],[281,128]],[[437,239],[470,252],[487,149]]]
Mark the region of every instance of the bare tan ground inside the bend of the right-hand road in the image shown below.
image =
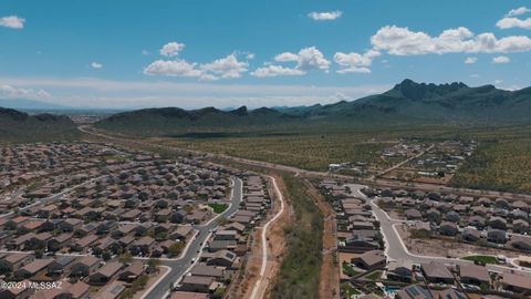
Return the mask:
[[[409,252],[420,256],[454,257],[461,258],[471,255],[518,257],[519,254],[499,248],[482,247],[475,244],[461,243],[450,237],[412,238],[410,228],[407,225],[396,227]]]

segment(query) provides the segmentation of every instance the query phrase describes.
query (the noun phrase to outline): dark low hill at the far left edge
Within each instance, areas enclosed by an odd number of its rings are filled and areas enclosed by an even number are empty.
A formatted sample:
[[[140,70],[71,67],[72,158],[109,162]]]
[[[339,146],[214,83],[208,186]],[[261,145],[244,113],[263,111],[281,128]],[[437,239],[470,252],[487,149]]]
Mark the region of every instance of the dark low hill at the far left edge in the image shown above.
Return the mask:
[[[0,107],[0,143],[60,141],[77,136],[76,125],[67,116],[30,116],[17,110]]]

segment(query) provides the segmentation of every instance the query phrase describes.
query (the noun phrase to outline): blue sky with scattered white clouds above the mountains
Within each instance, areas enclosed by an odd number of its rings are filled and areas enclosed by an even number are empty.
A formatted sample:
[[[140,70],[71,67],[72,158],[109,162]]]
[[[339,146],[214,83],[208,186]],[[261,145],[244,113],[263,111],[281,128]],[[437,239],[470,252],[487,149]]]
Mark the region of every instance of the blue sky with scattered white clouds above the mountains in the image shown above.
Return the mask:
[[[525,1],[0,2],[0,99],[250,107],[531,85]],[[531,6],[530,6],[531,8]]]

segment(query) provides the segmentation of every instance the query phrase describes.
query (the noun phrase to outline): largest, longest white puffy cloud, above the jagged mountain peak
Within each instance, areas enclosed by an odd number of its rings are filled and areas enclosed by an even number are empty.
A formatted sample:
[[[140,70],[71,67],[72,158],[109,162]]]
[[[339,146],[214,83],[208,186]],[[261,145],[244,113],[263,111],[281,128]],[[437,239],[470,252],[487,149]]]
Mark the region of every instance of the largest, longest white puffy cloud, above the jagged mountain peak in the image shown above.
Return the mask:
[[[493,33],[473,34],[464,27],[448,29],[438,37],[408,28],[386,25],[371,37],[375,50],[392,55],[445,53],[511,53],[531,51],[531,39],[511,35],[498,39]]]

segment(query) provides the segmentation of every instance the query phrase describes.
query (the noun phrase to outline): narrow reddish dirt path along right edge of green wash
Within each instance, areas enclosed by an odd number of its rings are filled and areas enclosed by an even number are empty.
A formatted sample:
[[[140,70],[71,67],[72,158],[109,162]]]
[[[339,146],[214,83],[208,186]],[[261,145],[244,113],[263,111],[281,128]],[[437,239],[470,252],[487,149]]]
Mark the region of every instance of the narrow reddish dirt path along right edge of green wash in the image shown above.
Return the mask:
[[[323,259],[319,279],[319,298],[340,298],[340,269],[336,262],[336,223],[335,212],[321,193],[304,179],[308,193],[323,214]]]

